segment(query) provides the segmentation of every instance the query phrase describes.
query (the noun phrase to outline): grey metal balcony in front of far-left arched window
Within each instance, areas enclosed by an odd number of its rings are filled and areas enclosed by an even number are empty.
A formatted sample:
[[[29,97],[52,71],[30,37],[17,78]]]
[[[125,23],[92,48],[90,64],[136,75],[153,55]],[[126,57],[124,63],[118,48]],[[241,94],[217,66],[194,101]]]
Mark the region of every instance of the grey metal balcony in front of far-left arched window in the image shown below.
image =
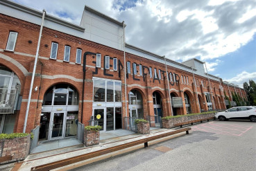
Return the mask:
[[[17,89],[0,88],[0,114],[12,114],[15,107]]]

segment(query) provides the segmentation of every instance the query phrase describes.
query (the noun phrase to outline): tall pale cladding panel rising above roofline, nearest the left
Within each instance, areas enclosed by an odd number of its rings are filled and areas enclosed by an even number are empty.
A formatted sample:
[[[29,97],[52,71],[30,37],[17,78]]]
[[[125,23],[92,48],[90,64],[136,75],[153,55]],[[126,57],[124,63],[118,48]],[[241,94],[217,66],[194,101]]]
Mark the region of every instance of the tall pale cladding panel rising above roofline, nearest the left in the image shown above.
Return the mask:
[[[92,42],[123,51],[123,27],[85,10],[81,27],[85,27],[87,39]]]

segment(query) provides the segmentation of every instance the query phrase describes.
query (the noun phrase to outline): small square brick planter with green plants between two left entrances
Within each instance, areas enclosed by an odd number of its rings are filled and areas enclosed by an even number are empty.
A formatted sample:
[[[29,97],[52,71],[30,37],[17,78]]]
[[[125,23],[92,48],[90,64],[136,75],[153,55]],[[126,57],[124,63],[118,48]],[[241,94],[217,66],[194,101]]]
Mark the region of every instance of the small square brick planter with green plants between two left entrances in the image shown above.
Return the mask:
[[[101,126],[86,126],[84,133],[84,143],[85,146],[92,146],[99,144],[99,131],[101,130]]]

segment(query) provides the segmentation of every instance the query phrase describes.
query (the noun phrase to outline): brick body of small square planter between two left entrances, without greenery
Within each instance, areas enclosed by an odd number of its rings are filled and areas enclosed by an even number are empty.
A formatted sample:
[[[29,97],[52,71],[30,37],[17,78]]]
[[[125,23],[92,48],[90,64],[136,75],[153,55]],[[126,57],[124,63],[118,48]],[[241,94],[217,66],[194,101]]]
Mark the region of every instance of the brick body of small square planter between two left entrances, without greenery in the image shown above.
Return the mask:
[[[83,135],[86,147],[99,144],[99,131],[88,131],[85,129],[85,133]]]

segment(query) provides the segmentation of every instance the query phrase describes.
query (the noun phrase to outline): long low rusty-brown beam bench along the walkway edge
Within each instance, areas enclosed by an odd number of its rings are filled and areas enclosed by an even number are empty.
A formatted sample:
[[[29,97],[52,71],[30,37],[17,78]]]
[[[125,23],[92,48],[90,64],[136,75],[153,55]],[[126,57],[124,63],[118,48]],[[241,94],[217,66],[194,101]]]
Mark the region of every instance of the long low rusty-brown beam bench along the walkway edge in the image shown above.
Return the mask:
[[[153,140],[156,140],[156,139],[159,139],[159,138],[164,138],[166,136],[171,136],[171,135],[178,134],[178,133],[181,133],[181,132],[186,132],[186,134],[189,134],[189,130],[191,130],[191,127],[177,129],[173,132],[167,132],[167,133],[164,133],[164,134],[159,134],[159,135],[151,136],[151,137],[148,137],[148,138],[143,138],[143,139],[133,141],[133,142],[130,142],[130,143],[125,143],[125,144],[117,145],[117,146],[114,146],[114,147],[108,147],[108,148],[105,148],[103,150],[98,150],[96,152],[89,152],[87,154],[81,154],[79,156],[74,156],[74,157],[71,157],[69,159],[62,159],[60,161],[55,161],[55,162],[47,163],[47,164],[44,164],[44,165],[37,165],[37,166],[31,168],[31,170],[52,170],[52,169],[60,168],[60,167],[65,166],[65,165],[70,165],[72,163],[77,163],[79,161],[84,161],[84,160],[87,160],[87,159],[91,159],[91,158],[94,158],[96,156],[101,156],[101,155],[104,155],[104,154],[108,154],[110,152],[116,152],[118,150],[123,150],[125,148],[133,147],[135,145],[139,145],[139,144],[142,144],[142,143],[144,143],[144,147],[148,147],[148,142],[149,141],[153,141]]]

